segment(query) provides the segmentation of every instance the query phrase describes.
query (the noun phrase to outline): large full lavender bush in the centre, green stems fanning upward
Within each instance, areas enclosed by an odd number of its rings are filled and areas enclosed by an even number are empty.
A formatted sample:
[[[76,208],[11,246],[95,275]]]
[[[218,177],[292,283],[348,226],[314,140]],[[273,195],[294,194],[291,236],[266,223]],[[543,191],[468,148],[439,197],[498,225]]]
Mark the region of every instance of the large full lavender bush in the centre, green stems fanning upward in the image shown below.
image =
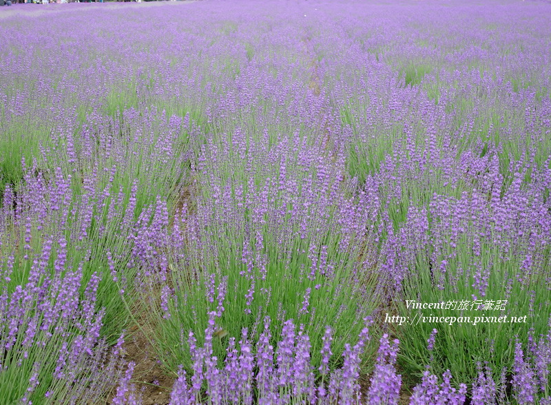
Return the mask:
[[[189,366],[189,357],[182,357],[189,348],[180,334],[194,331],[201,342],[207,336],[196,325],[216,311],[217,331],[236,337],[247,328],[253,344],[266,316],[275,331],[286,318],[304,324],[315,353],[313,363],[319,366],[324,322],[340,336],[332,349],[338,358],[344,342],[354,341],[362,319],[372,315],[380,299],[370,267],[377,251],[369,243],[377,233],[364,231],[370,220],[377,220],[377,196],[362,191],[359,198],[347,198],[355,183],[347,185],[342,169],[324,164],[322,152],[306,143],[291,149],[284,139],[266,150],[265,144],[249,138],[249,152],[247,138],[237,136],[233,147],[242,145],[237,150],[247,162],[247,186],[218,175],[219,164],[231,165],[234,176],[239,174],[231,163],[231,155],[238,152],[213,149],[210,158],[201,158],[211,165],[200,163],[196,174],[202,175],[198,183],[203,193],[211,187],[211,195],[196,200],[194,211],[185,206],[171,233],[166,220],[165,230],[159,228],[163,221],[157,217],[150,228],[157,232],[150,239],[155,241],[153,249],[160,252],[163,243],[169,249],[171,269],[171,287],[163,295],[164,309],[159,308],[161,353],[169,353],[165,361],[173,369],[176,359]],[[259,160],[264,159],[280,163],[262,165]],[[343,200],[346,205],[333,205]],[[360,237],[362,245],[351,243]],[[158,254],[156,260],[166,258]],[[278,332],[273,338],[279,339]],[[226,340],[216,340],[220,360],[225,345]]]

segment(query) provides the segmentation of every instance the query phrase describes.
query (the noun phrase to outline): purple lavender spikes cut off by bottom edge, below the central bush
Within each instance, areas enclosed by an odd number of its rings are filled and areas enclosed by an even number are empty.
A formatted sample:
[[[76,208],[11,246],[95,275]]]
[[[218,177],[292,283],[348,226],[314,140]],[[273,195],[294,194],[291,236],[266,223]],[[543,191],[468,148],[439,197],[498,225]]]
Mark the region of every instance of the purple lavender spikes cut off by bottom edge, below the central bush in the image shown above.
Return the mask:
[[[203,395],[214,404],[282,404],[318,403],[318,404],[358,404],[362,403],[362,393],[358,384],[360,357],[369,340],[368,329],[362,329],[354,346],[345,345],[342,353],[342,368],[322,374],[329,377],[315,382],[311,363],[311,345],[309,336],[304,334],[304,325],[298,332],[293,320],[283,322],[281,340],[278,349],[269,346],[271,338],[271,320],[264,319],[264,331],[256,345],[247,339],[247,329],[243,329],[239,349],[236,339],[231,337],[227,346],[225,362],[217,368],[217,358],[213,355],[213,340],[209,337],[216,330],[216,312],[209,313],[209,326],[205,331],[205,344],[198,346],[193,333],[189,333],[189,349],[193,361],[194,374],[188,382],[183,366],[178,371],[178,380],[174,382],[171,404],[202,402]],[[331,328],[325,336],[331,335]],[[380,349],[384,351],[385,349]],[[331,342],[326,340],[322,355],[324,359],[331,352]],[[326,366],[325,366],[326,367]],[[202,386],[206,385],[206,390]]]

